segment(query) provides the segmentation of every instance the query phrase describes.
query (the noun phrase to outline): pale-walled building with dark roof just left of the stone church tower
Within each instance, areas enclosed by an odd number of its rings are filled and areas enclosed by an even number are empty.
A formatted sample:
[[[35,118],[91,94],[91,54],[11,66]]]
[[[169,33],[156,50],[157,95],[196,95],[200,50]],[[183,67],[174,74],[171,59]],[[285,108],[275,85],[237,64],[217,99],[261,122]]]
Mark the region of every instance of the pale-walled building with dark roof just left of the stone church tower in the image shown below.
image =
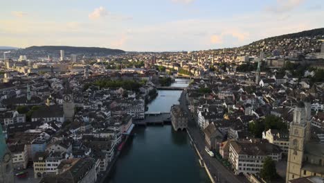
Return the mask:
[[[279,146],[282,150],[282,153],[288,154],[289,148],[289,135],[288,132],[271,130],[262,132],[262,139],[267,139],[269,143],[273,143]]]

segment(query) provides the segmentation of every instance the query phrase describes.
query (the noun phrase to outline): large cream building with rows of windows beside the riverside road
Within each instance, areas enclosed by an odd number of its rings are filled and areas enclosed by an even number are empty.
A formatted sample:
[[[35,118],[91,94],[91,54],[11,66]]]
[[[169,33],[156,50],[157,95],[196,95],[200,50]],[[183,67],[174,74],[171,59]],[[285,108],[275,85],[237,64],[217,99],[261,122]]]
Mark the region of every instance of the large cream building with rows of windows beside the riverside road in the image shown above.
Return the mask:
[[[263,159],[271,157],[278,162],[282,150],[267,141],[229,141],[228,160],[231,162],[235,175],[243,173],[260,173]]]

